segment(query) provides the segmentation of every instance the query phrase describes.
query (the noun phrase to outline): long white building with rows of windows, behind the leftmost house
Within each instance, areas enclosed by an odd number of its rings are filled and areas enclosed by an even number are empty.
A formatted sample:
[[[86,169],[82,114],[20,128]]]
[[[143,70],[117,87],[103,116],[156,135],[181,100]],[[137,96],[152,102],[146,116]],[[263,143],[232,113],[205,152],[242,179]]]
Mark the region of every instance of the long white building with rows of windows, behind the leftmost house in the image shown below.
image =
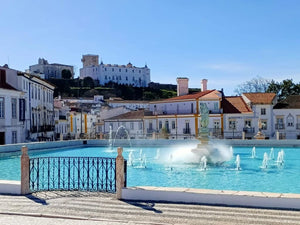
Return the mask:
[[[27,141],[54,139],[53,92],[55,86],[40,77],[0,67],[6,83],[24,92],[24,134]],[[23,107],[23,106],[22,106]],[[21,109],[22,110],[22,109]]]

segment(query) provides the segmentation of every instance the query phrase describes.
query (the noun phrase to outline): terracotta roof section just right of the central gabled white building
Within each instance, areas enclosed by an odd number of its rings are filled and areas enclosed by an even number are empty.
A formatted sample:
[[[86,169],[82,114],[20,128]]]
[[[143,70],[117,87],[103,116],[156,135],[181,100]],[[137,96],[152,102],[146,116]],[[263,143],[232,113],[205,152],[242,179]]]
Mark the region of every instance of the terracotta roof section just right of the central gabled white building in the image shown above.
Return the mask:
[[[241,96],[224,97],[222,99],[223,113],[250,113],[252,110],[247,106]]]

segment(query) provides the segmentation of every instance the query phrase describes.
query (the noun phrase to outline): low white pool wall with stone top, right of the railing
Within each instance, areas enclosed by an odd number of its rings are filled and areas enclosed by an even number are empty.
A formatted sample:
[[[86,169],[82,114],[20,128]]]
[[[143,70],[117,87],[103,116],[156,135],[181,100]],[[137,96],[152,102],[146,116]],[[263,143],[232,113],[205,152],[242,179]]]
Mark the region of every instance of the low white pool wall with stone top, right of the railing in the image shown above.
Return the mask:
[[[122,199],[300,210],[300,194],[131,187],[123,188]]]

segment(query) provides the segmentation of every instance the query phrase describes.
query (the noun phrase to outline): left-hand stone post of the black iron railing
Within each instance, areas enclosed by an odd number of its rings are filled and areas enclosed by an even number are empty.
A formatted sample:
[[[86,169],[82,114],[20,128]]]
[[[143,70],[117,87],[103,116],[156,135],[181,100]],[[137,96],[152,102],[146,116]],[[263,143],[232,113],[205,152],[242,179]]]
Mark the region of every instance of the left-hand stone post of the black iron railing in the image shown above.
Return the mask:
[[[22,147],[21,156],[21,194],[26,195],[30,193],[29,189],[29,156],[28,148],[26,146]]]

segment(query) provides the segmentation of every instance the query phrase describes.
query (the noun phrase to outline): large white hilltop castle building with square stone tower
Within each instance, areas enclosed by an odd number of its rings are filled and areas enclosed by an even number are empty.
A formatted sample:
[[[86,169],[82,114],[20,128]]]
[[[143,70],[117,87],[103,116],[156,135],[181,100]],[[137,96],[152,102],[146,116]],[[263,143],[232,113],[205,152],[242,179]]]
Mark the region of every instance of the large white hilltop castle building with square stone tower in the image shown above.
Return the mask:
[[[148,87],[150,83],[150,69],[135,67],[131,63],[125,65],[99,64],[98,55],[83,55],[81,59],[83,68],[80,69],[80,78],[91,77],[100,85],[108,82],[132,85],[135,87]]]

